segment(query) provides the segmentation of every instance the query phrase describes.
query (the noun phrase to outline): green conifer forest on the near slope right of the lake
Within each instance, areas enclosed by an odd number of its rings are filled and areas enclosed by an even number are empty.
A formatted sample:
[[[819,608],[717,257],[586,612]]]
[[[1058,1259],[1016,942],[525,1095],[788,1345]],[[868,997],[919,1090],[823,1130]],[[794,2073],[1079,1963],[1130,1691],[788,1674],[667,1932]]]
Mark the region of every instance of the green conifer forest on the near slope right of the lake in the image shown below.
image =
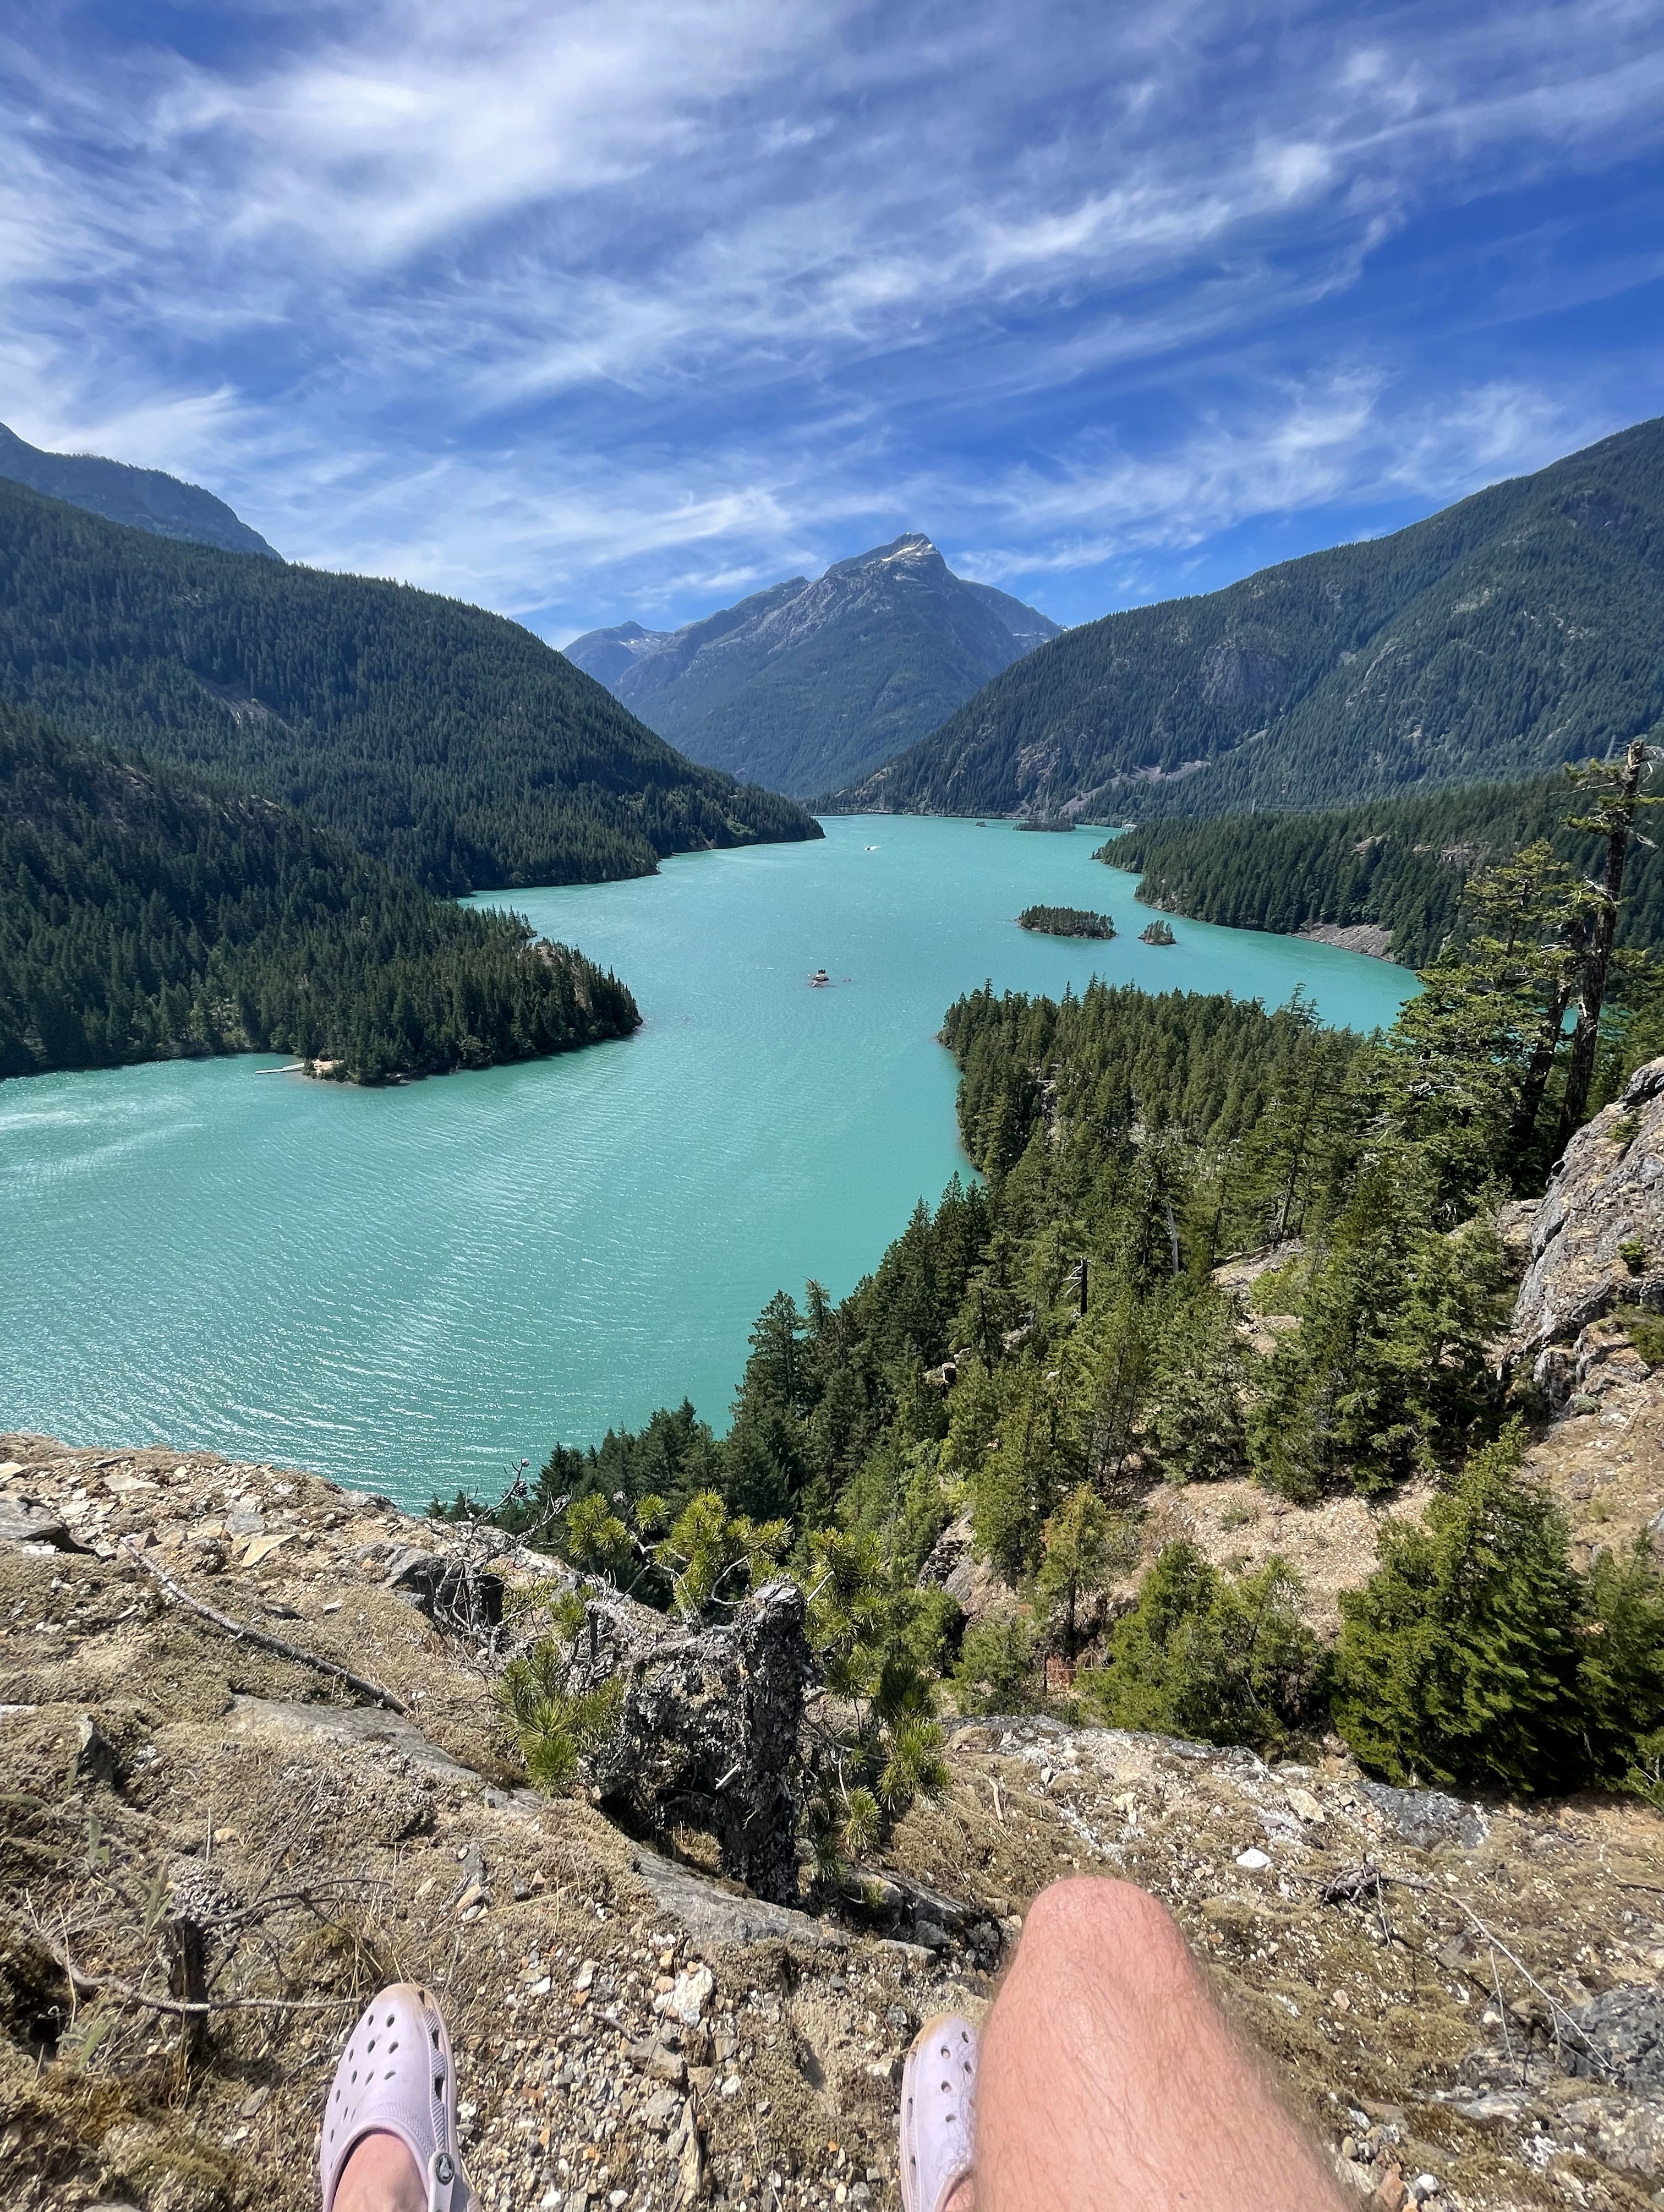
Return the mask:
[[[1620,845],[1631,794],[1622,768],[1584,779]],[[921,1203],[847,1298],[770,1298],[724,1438],[684,1400],[558,1444],[498,1517],[693,1617],[781,1564],[805,1579],[859,1719],[810,1823],[828,1865],[932,1785],[936,1681],[1016,1712],[1047,1703],[1047,1659],[1062,1710],[1120,1728],[1263,1752],[1334,1728],[1396,1783],[1655,1794],[1664,1577],[1646,1540],[1573,1566],[1496,1356],[1500,1203],[1542,1190],[1569,1102],[1657,1048],[1620,1011],[1571,1099],[1587,896],[1545,841],[1476,872],[1374,1037],[1299,995],[969,993],[943,1042],[980,1179]],[[1270,1334],[1215,1281],[1235,1254],[1263,1256]],[[1425,1526],[1381,1524],[1330,1648],[1286,1559],[1233,1573],[1184,1540],[1109,1613],[1151,1495],[1244,1473],[1306,1506],[1438,1495]],[[969,1630],[927,1568],[960,1517],[1022,1599]]]

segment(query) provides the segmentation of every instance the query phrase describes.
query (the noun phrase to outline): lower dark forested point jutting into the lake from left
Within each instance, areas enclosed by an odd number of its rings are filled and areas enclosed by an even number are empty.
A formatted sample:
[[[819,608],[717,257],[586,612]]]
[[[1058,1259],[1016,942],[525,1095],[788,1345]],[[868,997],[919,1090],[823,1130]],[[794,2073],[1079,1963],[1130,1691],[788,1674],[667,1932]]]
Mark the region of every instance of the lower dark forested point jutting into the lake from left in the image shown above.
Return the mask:
[[[0,706],[0,1075],[261,1048],[376,1082],[637,1024],[624,984],[516,916]]]

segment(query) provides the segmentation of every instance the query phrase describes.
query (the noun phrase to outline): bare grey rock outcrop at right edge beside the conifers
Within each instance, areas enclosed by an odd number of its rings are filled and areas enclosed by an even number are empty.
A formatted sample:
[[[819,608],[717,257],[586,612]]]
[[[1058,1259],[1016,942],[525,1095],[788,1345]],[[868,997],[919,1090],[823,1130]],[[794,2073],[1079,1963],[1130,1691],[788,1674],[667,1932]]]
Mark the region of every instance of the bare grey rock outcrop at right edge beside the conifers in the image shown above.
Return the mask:
[[[1571,1343],[1613,1305],[1664,1310],[1664,1060],[1567,1146],[1531,1221],[1514,1358]]]

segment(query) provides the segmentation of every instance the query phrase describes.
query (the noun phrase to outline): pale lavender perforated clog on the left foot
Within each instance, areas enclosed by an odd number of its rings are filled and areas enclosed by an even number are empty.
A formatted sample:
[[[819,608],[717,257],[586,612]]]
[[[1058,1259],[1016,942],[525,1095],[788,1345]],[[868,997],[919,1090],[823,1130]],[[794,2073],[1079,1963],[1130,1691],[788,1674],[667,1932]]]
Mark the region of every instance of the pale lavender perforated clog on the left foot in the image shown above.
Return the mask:
[[[431,1989],[394,1982],[347,2037],[319,2137],[323,2212],[356,2143],[396,2135],[427,2185],[427,2212],[471,2212],[476,2197],[456,2148],[456,2066]]]

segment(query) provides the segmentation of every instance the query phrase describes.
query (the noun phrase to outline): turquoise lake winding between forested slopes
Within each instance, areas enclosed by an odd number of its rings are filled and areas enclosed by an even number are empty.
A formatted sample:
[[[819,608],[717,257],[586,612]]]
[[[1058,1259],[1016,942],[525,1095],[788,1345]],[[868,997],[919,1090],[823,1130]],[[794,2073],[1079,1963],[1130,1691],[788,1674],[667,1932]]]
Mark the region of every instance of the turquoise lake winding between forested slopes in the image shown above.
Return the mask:
[[[1412,984],[1202,922],[1144,947],[1098,843],[856,816],[516,894],[646,1015],[562,1060],[389,1091],[266,1055],[0,1084],[0,1429],[212,1447],[403,1502],[496,1495],[511,1462],[684,1394],[721,1429],[763,1301],[847,1292],[965,1166],[936,1044],[958,993],[1303,984],[1374,1029]],[[1122,936],[1029,936],[1031,902]]]

